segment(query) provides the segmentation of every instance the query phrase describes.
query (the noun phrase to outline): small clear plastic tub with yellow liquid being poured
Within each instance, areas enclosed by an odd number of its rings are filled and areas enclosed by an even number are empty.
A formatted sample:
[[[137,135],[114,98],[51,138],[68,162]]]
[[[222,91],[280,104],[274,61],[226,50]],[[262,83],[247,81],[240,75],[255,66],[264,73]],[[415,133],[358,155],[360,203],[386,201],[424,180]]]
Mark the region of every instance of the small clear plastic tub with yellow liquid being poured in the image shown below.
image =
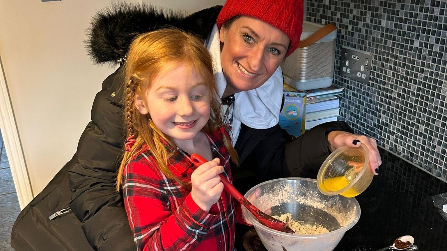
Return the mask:
[[[355,197],[371,184],[374,173],[369,165],[368,148],[343,146],[333,151],[321,165],[316,177],[318,189],[325,195]]]

